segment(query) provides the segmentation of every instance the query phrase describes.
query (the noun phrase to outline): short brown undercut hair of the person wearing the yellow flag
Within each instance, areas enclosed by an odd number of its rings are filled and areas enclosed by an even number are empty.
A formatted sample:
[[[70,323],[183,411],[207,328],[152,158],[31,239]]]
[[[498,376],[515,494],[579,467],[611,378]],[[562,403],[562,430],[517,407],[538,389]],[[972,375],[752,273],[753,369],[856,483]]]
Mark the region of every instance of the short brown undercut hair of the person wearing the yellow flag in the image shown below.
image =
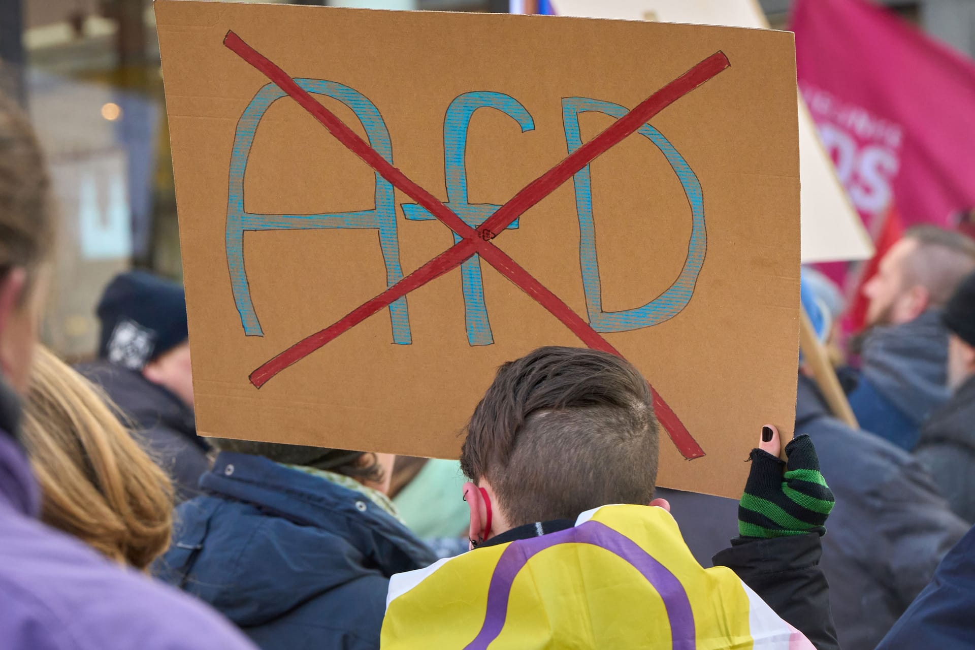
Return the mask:
[[[461,469],[487,478],[512,526],[646,505],[657,478],[653,398],[631,363],[539,348],[505,363],[467,425]]]

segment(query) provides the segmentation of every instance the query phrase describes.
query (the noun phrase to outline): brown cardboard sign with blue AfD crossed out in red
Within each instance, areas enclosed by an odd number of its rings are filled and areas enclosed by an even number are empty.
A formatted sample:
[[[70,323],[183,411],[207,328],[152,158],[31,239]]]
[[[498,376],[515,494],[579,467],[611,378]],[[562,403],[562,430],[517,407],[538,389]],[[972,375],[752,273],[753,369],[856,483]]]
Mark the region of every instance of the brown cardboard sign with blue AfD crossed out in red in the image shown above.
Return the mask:
[[[789,434],[790,34],[155,6],[201,435],[456,457],[541,345],[643,371],[662,485]]]

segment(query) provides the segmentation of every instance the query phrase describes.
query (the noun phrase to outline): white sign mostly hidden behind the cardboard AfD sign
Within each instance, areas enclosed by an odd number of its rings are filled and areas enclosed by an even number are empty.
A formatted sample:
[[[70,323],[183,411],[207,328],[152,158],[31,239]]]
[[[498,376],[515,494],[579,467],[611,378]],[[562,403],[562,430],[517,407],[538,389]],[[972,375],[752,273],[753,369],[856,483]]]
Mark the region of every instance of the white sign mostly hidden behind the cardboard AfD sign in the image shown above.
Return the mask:
[[[767,28],[758,0],[552,0],[560,16]],[[839,182],[800,96],[802,261],[870,259],[874,244]]]

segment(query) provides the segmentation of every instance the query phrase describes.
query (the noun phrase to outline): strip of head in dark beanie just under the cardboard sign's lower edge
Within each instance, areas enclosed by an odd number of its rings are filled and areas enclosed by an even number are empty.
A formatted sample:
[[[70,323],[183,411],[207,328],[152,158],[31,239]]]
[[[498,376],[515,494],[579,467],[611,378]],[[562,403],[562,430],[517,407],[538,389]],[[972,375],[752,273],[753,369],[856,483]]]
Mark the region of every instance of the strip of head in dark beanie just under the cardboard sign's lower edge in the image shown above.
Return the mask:
[[[217,451],[263,456],[281,465],[332,472],[344,477],[354,478],[363,485],[377,489],[384,494],[389,492],[390,479],[393,477],[393,464],[396,460],[394,454],[311,447],[301,444],[229,438],[208,438],[207,440]]]

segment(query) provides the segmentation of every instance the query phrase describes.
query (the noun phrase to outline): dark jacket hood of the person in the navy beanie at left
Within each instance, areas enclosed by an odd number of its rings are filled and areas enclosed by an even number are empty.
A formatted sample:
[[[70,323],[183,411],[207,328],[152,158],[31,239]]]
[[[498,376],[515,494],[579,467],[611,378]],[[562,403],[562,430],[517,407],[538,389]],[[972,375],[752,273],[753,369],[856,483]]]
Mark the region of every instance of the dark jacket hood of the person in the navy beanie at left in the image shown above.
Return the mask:
[[[139,429],[152,429],[161,424],[206,448],[206,443],[196,435],[193,409],[166,387],[152,383],[137,370],[106,361],[82,363],[76,369],[101,386],[125,415],[135,420]]]

